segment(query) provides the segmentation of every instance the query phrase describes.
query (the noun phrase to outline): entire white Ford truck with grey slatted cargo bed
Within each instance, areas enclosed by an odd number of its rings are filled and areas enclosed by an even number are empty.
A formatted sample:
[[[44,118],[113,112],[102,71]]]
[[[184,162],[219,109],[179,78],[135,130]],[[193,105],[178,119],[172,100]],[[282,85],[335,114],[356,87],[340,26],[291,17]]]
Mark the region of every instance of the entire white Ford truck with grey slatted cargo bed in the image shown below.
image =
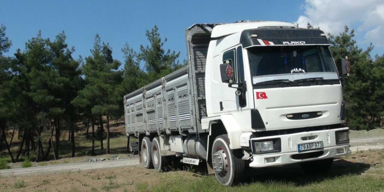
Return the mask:
[[[140,161],[207,164],[223,185],[246,167],[328,170],[351,153],[343,92],[321,30],[287,22],[195,24],[188,65],[124,96]]]

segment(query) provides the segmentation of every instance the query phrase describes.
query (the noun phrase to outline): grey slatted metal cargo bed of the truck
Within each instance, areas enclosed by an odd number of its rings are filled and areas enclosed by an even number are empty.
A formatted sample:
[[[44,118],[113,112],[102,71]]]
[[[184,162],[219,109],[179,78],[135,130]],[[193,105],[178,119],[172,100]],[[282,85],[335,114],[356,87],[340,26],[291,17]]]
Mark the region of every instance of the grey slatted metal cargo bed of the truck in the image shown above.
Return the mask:
[[[124,96],[127,136],[205,132],[205,64],[214,24],[185,30],[188,65]]]

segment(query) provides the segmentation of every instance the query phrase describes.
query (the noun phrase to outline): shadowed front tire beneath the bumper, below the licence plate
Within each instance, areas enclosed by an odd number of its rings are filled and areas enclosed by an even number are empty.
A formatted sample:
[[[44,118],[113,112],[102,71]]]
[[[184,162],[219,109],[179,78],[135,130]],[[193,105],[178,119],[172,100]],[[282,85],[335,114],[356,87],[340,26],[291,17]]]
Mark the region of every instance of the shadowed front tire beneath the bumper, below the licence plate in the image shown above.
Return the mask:
[[[319,174],[327,172],[333,163],[333,158],[300,163],[301,169],[307,174]]]

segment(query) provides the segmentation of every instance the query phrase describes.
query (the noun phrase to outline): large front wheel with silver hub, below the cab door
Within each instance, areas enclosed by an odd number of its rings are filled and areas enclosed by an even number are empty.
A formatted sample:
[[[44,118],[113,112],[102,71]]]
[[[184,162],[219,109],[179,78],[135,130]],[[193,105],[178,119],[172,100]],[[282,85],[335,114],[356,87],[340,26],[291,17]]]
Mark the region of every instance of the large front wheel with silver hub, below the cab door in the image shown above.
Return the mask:
[[[232,186],[242,180],[245,163],[236,150],[229,149],[228,136],[217,136],[212,145],[212,167],[217,180],[224,186]]]

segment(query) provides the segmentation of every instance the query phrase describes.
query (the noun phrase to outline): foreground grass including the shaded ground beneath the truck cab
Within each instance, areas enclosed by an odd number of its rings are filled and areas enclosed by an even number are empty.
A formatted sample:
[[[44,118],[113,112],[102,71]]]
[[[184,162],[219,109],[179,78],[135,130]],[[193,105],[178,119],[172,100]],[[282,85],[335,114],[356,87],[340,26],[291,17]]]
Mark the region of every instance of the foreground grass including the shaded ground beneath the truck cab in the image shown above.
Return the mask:
[[[381,157],[383,151],[372,151],[368,156]],[[247,169],[242,183],[233,186],[222,186],[214,175],[195,174],[187,171],[165,172],[160,174],[161,182],[151,185],[154,192],[326,192],[326,191],[384,191],[384,166],[350,162],[343,158],[334,162],[334,166],[326,174],[305,174],[298,165],[286,167],[270,167]],[[148,188],[142,187],[146,191]]]

